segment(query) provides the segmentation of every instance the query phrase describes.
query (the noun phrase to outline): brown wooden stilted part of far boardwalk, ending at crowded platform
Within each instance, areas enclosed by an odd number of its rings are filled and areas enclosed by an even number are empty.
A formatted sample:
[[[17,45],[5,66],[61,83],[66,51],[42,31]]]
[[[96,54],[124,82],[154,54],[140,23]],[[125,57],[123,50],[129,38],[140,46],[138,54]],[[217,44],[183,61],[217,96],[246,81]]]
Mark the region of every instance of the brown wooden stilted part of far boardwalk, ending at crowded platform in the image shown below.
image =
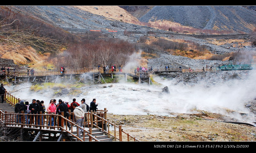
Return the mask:
[[[18,79],[26,80],[27,82],[34,82],[36,79],[44,80],[44,82],[48,80],[55,80],[55,83],[58,79],[66,77],[71,80],[74,77],[80,77],[80,80],[91,79],[93,82],[95,80],[100,81],[101,78],[105,82],[104,77],[109,75],[113,79],[113,75],[124,75],[125,80],[127,81],[127,76],[131,76],[133,79],[139,80],[139,83],[148,83],[153,84],[150,80],[149,72],[134,72],[134,70],[130,69],[102,69],[102,68],[83,68],[83,69],[72,69],[72,70],[52,70],[52,71],[42,71],[42,72],[25,72],[25,71],[10,71],[9,73],[4,73],[0,75],[2,79],[9,81],[10,79],[14,79],[16,82]],[[106,82],[105,82],[106,83]]]

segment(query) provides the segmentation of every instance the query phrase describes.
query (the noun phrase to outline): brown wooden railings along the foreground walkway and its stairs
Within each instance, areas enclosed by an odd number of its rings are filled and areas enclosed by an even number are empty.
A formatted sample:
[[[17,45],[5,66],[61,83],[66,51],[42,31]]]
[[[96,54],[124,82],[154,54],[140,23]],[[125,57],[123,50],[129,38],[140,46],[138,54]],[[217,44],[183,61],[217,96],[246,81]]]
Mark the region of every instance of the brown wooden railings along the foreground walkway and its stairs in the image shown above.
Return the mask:
[[[70,120],[70,115],[73,116],[73,121]],[[84,129],[84,127],[80,127],[79,125],[76,124],[73,113],[70,113],[70,115],[68,118],[65,118],[64,112],[61,112],[61,115],[47,114],[47,113],[42,114],[42,112],[40,112],[39,114],[26,114],[23,111],[19,114],[19,113],[8,113],[8,112],[4,113],[0,110],[0,120],[2,122],[5,120],[4,121],[5,125],[20,126],[21,128],[33,127],[33,128],[39,128],[39,129],[61,129],[63,131],[68,132],[69,134],[77,138],[79,141],[84,141],[85,136],[89,136],[89,141],[92,141],[92,139],[95,141],[99,141],[97,138],[92,136],[92,128],[96,127],[100,129],[102,132],[104,132],[105,134],[107,134],[108,137],[110,136],[113,137],[115,141],[116,140],[122,141],[122,133],[127,135],[127,141],[129,141],[130,138],[132,138],[134,141],[139,141],[132,135],[126,133],[122,129],[121,125],[117,126],[114,123],[109,122],[106,119],[107,118],[106,108],[104,110],[100,110],[97,112],[91,111],[91,112],[85,113],[84,117],[87,119],[87,122],[85,122],[84,120],[84,126],[85,125],[89,126],[91,123],[91,127],[89,128],[89,131]],[[92,119],[93,117],[95,118],[95,121],[93,121]],[[53,126],[52,126],[52,118],[53,118]],[[71,126],[75,126],[77,128],[77,131],[78,131],[78,128],[83,129],[84,130],[83,137],[79,138],[78,133],[77,135],[74,135],[72,133],[73,128],[71,128],[71,131],[69,131],[67,126],[68,122],[70,123]],[[64,125],[64,123],[66,125]],[[102,126],[100,127],[99,124],[101,124]],[[110,133],[109,125],[114,126],[114,135]],[[118,128],[119,137],[116,136],[116,133],[117,133],[116,128]]]

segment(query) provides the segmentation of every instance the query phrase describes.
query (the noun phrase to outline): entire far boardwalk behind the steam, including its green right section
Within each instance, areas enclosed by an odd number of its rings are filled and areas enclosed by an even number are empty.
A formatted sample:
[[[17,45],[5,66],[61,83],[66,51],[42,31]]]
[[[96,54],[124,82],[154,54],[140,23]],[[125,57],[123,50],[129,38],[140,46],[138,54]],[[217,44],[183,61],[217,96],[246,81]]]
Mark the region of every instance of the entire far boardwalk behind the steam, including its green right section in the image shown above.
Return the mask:
[[[80,80],[90,79],[93,82],[97,80],[101,82],[104,80],[104,77],[109,75],[113,79],[113,75],[124,75],[125,80],[127,81],[127,76],[131,76],[134,80],[138,80],[139,83],[147,83],[148,85],[153,84],[150,79],[150,74],[158,73],[170,73],[170,72],[214,72],[214,71],[231,71],[231,70],[252,70],[255,69],[256,65],[247,64],[247,65],[224,65],[221,67],[215,68],[205,68],[205,69],[190,69],[188,67],[183,68],[155,68],[152,71],[146,72],[136,72],[130,69],[102,69],[102,68],[83,68],[83,69],[71,69],[71,70],[52,70],[52,71],[42,71],[42,72],[25,72],[25,71],[9,71],[9,73],[1,73],[0,78],[5,79],[7,82],[9,80],[14,80],[16,83],[17,80],[23,81],[32,81],[41,80],[44,82],[55,81],[55,83],[60,78],[67,78],[69,80],[74,77],[80,77]],[[104,76],[104,77],[103,77]]]

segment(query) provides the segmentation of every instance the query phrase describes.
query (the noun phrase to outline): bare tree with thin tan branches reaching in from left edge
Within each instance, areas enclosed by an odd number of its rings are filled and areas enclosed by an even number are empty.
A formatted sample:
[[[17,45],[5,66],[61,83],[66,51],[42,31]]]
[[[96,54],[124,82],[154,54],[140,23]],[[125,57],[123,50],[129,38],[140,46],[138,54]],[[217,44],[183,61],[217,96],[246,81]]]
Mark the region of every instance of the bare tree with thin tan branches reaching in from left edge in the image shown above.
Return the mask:
[[[51,37],[40,37],[37,33],[40,27],[26,26],[22,27],[20,20],[17,19],[16,13],[12,10],[0,11],[0,43],[3,45],[11,45],[12,48],[0,52],[0,57],[6,53],[18,48],[25,48],[28,45],[36,47],[42,52],[54,52],[48,45],[61,46],[56,43],[58,40]]]

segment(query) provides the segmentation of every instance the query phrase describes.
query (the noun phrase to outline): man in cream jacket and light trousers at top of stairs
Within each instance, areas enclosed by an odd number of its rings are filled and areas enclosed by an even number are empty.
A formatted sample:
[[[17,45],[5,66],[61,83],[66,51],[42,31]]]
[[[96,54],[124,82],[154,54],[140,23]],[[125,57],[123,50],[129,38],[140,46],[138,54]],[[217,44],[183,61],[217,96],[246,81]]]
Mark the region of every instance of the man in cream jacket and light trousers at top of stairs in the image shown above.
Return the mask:
[[[77,104],[73,104],[74,108],[74,115],[76,117],[76,124],[79,125],[80,127],[83,127],[83,122],[84,122],[84,110],[82,108],[77,107]],[[81,132],[80,132],[81,131]],[[81,133],[84,132],[83,129],[78,129],[78,137],[81,138]]]

